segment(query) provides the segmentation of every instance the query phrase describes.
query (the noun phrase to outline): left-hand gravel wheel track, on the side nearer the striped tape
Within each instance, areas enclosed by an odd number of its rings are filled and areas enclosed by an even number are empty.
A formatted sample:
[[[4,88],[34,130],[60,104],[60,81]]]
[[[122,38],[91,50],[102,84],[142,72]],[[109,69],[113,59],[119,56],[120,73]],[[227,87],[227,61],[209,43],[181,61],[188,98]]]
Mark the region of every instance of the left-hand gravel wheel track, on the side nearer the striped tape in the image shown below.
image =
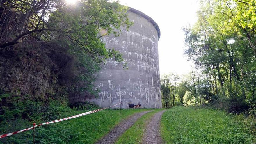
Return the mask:
[[[135,115],[130,116],[129,118],[123,120],[118,125],[116,125],[111,131],[101,138],[96,144],[112,144],[114,143],[119,136],[121,136],[127,129],[129,129],[135,122],[143,116],[144,114],[150,111],[143,111],[141,113],[137,113]]]

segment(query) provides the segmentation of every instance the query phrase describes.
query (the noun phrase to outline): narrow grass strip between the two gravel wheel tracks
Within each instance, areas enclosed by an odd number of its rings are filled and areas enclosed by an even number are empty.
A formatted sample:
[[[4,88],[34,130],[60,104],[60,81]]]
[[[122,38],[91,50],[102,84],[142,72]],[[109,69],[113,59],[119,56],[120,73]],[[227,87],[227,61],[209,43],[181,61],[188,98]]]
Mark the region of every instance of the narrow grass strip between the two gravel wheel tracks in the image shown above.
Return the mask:
[[[146,122],[157,112],[162,109],[156,109],[149,113],[146,113],[141,118],[139,118],[133,126],[131,126],[127,131],[122,134],[118,139],[116,144],[137,144],[142,142],[143,134],[146,127]]]

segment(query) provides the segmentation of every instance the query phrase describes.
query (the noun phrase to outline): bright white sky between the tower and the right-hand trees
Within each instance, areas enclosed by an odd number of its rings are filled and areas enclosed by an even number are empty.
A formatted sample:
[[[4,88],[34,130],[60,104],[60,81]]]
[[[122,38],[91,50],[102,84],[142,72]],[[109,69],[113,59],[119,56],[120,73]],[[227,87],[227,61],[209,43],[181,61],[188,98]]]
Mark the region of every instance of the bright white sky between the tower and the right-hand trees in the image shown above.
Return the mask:
[[[184,32],[182,28],[193,25],[197,0],[119,0],[123,5],[135,8],[150,16],[159,26],[158,41],[160,74],[174,72],[182,75],[191,71],[191,61],[184,57]]]

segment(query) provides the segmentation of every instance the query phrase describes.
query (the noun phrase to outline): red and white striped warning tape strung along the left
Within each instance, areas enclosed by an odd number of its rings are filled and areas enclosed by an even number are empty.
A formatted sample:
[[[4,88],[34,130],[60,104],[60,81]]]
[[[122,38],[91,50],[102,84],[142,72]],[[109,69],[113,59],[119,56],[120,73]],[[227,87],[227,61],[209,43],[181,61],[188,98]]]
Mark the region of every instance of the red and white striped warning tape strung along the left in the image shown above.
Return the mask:
[[[119,104],[121,104],[121,103],[119,103]],[[118,104],[115,104],[113,106],[117,106],[117,105]],[[15,131],[15,132],[11,132],[11,133],[8,133],[8,134],[0,135],[0,138],[4,138],[6,136],[11,136],[11,135],[18,134],[18,133],[21,133],[21,132],[24,132],[24,131],[28,131],[28,130],[34,129],[35,127],[38,127],[40,125],[47,125],[47,124],[51,124],[51,123],[55,123],[55,122],[61,122],[63,120],[69,120],[69,119],[72,119],[72,118],[77,118],[77,117],[80,117],[80,116],[83,116],[83,115],[88,115],[88,114],[91,114],[91,113],[102,111],[104,109],[108,109],[108,108],[113,107],[113,106],[109,106],[109,107],[102,108],[102,109],[96,109],[94,111],[88,111],[88,112],[85,112],[85,113],[74,115],[74,116],[71,116],[71,117],[68,117],[68,118],[62,118],[62,119],[59,119],[59,120],[54,120],[54,121],[51,121],[51,122],[45,122],[45,123],[42,123],[42,124],[39,124],[39,125],[34,125],[33,127],[30,127],[30,128],[27,128],[27,129],[23,129],[23,130],[20,130],[20,131]]]

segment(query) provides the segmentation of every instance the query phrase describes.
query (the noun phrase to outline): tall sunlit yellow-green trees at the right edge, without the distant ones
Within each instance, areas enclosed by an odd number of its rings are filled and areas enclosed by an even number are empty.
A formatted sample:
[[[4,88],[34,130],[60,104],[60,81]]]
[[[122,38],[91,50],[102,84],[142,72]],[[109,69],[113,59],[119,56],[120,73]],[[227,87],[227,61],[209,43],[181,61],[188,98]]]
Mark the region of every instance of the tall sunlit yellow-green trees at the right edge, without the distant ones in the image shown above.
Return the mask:
[[[199,82],[201,96],[229,112],[255,114],[254,17],[253,0],[202,1],[198,21],[184,28],[185,54],[206,77]]]

